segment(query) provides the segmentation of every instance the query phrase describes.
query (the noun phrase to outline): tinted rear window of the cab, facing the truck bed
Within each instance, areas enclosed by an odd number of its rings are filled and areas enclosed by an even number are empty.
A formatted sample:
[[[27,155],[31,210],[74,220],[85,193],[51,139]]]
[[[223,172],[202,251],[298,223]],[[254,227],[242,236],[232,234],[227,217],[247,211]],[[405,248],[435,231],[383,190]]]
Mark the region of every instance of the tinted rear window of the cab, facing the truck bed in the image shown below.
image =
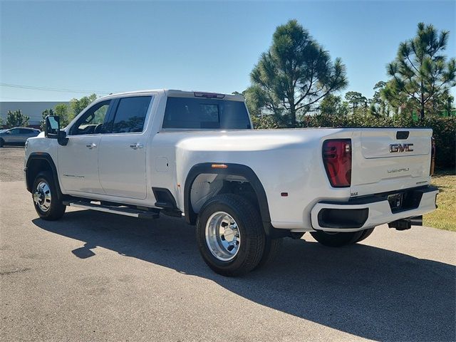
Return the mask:
[[[246,130],[249,115],[243,102],[206,98],[167,98],[163,128]]]

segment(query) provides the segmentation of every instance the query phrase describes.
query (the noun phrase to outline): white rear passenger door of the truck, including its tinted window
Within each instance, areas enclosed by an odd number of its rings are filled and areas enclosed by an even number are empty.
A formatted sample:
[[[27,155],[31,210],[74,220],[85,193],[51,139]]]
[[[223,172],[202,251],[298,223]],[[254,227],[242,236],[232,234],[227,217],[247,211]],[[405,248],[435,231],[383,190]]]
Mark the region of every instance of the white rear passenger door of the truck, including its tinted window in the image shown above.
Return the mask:
[[[151,95],[132,95],[115,100],[110,112],[110,134],[102,135],[98,150],[100,183],[106,195],[146,198],[145,128],[152,106]]]

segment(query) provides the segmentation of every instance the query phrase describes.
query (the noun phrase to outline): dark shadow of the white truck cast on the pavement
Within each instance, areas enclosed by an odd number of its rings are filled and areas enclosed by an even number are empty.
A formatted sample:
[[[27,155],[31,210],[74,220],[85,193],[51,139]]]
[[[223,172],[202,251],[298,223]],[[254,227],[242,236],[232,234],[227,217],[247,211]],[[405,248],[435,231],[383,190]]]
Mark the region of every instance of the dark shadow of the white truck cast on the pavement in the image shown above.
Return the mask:
[[[242,278],[226,278],[204,264],[195,229],[182,219],[149,221],[81,210],[67,212],[58,222],[34,219],[33,223],[83,242],[68,251],[78,258],[96,257],[95,247],[100,246],[210,279],[257,304],[363,338],[454,341],[456,337],[456,268],[450,264],[363,244],[331,249],[285,239],[270,266]]]

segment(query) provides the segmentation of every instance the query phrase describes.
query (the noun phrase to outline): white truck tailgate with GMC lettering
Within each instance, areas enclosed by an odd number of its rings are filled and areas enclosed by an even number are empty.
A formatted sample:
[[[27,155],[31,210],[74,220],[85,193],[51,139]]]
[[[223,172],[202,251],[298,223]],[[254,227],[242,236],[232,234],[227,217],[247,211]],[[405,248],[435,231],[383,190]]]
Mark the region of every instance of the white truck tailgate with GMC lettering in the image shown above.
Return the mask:
[[[368,128],[352,136],[351,196],[430,182],[430,129]]]

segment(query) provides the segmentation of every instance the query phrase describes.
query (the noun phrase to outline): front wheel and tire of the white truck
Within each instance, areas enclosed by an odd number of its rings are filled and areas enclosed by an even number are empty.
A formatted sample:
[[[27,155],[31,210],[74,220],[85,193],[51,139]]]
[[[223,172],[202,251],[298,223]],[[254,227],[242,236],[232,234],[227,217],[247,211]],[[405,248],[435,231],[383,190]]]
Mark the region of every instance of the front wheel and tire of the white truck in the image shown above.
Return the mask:
[[[40,172],[33,181],[33,206],[41,219],[55,221],[65,214],[66,206],[58,200],[58,189],[50,172]]]

